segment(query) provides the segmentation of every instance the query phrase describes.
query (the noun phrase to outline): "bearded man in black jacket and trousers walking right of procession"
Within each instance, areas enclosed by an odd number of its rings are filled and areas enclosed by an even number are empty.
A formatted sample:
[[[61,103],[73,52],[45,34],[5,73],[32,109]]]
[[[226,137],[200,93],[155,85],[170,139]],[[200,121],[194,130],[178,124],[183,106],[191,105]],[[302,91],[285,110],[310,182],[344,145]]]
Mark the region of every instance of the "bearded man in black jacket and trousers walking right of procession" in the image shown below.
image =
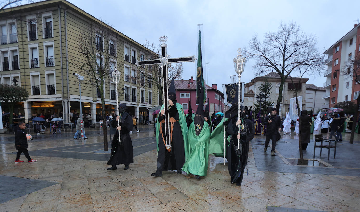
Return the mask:
[[[264,121],[262,124],[266,125],[266,140],[265,140],[265,148],[264,152],[267,150],[267,145],[272,141],[271,145],[271,155],[275,156],[275,147],[276,147],[276,140],[278,140],[278,132],[281,131],[281,121],[280,116],[276,114],[276,108],[273,107],[271,111],[271,115],[265,116]]]

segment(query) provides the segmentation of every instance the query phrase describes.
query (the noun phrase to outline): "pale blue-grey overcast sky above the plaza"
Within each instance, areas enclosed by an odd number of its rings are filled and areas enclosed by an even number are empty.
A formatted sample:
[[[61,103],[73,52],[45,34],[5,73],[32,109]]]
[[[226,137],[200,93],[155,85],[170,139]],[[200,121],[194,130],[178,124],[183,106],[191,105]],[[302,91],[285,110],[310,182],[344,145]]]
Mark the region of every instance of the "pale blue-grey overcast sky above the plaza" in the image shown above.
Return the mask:
[[[265,32],[276,31],[280,22],[294,21],[304,32],[315,34],[318,49],[324,52],[324,46],[328,49],[333,45],[360,17],[360,1],[69,1],[140,44],[145,40],[158,44],[159,36],[167,35],[171,57],[197,55],[197,24],[203,23],[207,84],[218,86],[230,83],[230,75],[235,75],[233,58],[237,49],[248,46],[254,34],[262,39]],[[246,64],[241,81],[248,83],[255,77],[252,64],[251,60]],[[182,78],[189,79],[195,72],[196,63],[185,63]],[[310,77],[307,83],[322,86],[325,81],[321,75]]]

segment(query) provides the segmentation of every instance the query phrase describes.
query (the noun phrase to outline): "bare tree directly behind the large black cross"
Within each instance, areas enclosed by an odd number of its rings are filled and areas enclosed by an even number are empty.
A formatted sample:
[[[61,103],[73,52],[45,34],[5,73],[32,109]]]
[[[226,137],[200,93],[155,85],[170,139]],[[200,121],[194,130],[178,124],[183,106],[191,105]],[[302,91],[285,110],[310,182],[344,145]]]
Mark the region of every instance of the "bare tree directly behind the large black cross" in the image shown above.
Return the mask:
[[[161,48],[160,44],[155,45],[154,43],[151,43],[148,40],[145,40],[145,47],[147,47],[151,52],[148,52],[149,55],[153,55],[149,59],[157,59],[161,55]],[[153,54],[153,52],[156,53],[156,55]],[[140,87],[148,86],[149,84],[154,84],[154,86],[157,87],[159,92],[159,105],[162,105],[162,94],[163,94],[163,86],[162,86],[162,71],[161,66],[159,65],[152,65],[148,68],[144,67],[144,69],[138,68],[140,71],[140,74],[138,75],[140,79]],[[180,79],[183,75],[183,64],[182,63],[176,63],[171,64],[169,66],[169,72],[168,77],[169,79]]]

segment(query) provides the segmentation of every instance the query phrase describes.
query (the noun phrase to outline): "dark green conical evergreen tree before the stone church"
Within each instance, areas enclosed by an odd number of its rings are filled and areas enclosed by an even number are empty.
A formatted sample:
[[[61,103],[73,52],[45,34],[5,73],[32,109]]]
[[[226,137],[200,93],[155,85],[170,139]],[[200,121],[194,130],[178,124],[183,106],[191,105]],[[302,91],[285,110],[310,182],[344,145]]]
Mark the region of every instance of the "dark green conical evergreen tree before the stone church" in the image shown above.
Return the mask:
[[[267,115],[267,107],[274,105],[274,102],[269,100],[271,89],[273,89],[273,86],[271,86],[271,83],[269,83],[265,78],[265,82],[261,83],[261,86],[259,86],[260,93],[256,95],[257,98],[262,97],[261,114]],[[260,99],[257,99],[254,105],[255,105],[254,115],[256,116],[260,110]]]

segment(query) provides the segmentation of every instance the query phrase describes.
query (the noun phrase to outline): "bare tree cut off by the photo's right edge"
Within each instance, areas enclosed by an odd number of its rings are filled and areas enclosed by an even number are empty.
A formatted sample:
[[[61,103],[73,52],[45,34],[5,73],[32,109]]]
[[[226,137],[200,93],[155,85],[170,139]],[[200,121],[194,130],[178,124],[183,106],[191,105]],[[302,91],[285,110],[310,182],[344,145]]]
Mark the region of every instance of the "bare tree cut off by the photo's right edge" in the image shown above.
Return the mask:
[[[350,57],[344,63],[343,69],[341,73],[343,75],[347,75],[350,78],[353,78],[355,82],[360,84],[360,55],[357,54],[355,57]],[[355,127],[356,127],[356,120],[359,117],[359,105],[360,105],[360,95],[357,95],[356,98],[356,106],[354,110],[354,123],[352,124],[351,135],[350,135],[350,142],[354,143],[354,135],[355,135]]]

